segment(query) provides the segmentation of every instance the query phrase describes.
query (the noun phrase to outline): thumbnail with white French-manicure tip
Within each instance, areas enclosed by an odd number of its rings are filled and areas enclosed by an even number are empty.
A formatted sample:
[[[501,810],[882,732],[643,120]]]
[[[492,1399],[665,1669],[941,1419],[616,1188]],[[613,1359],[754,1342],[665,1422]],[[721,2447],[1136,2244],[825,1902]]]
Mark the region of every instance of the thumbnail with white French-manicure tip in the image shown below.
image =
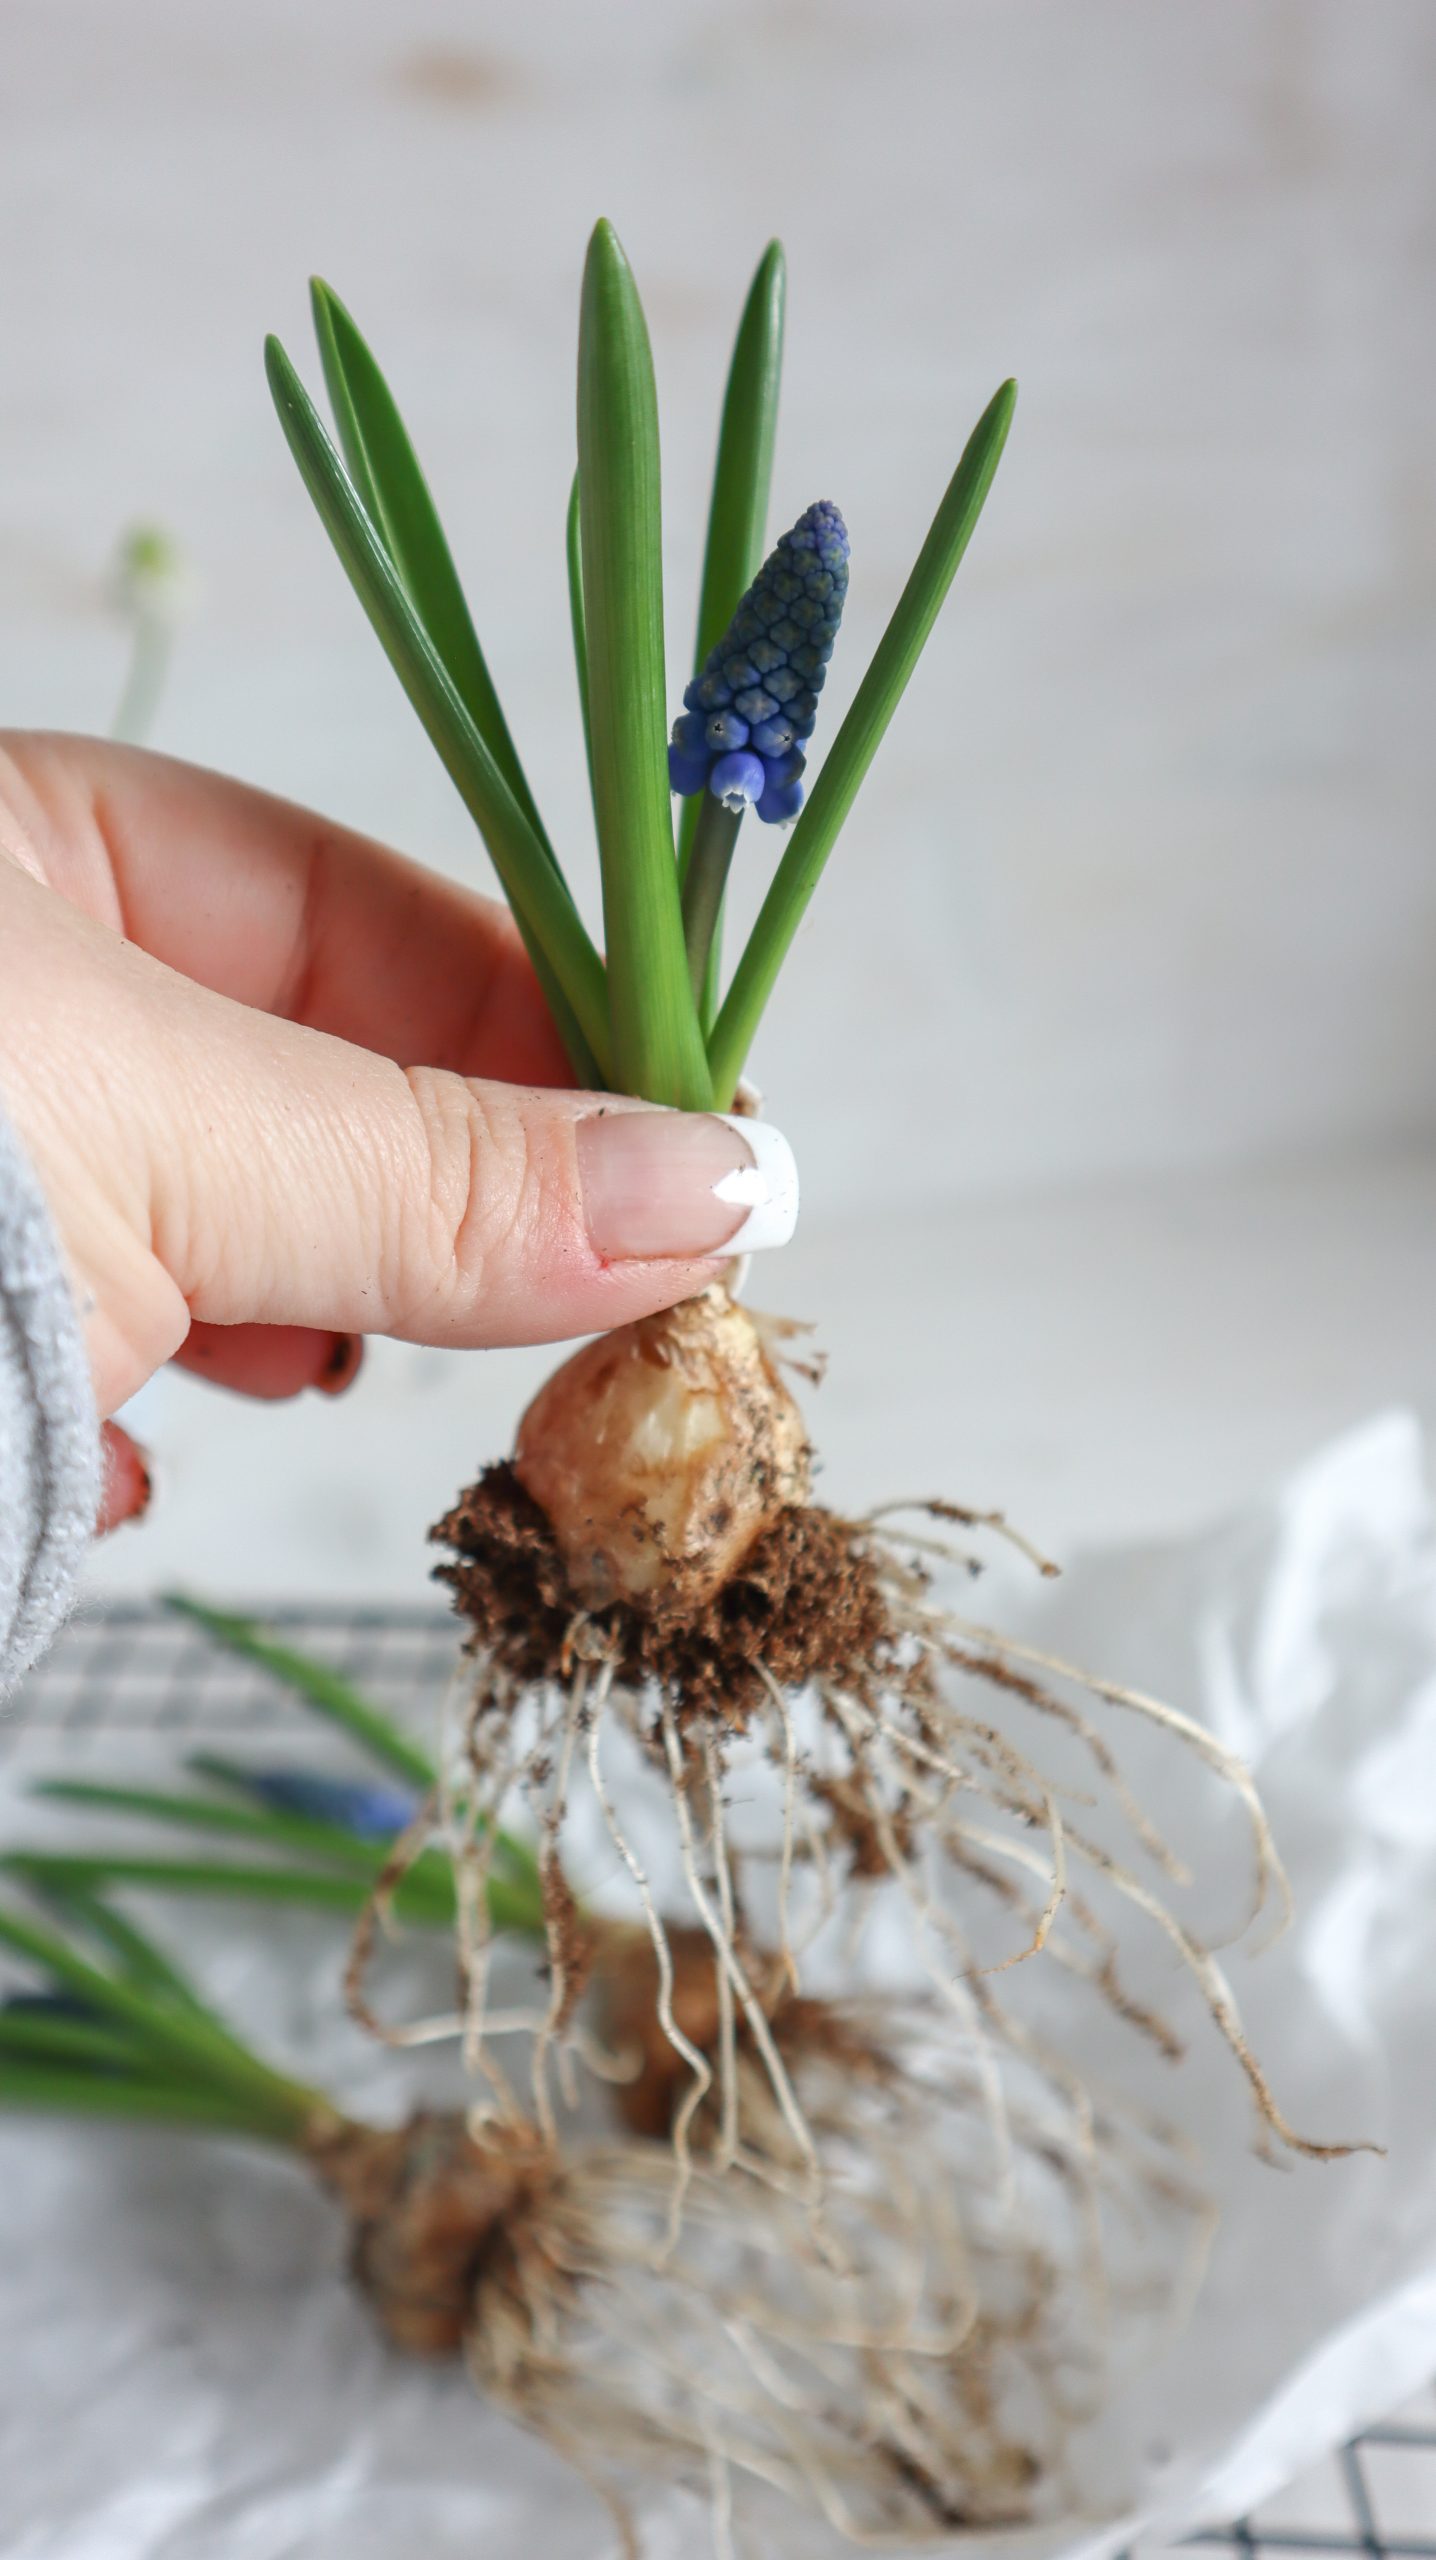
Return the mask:
[[[770,1121],[724,1111],[591,1111],[578,1178],[609,1262],[760,1254],[799,1224],[799,1167]]]

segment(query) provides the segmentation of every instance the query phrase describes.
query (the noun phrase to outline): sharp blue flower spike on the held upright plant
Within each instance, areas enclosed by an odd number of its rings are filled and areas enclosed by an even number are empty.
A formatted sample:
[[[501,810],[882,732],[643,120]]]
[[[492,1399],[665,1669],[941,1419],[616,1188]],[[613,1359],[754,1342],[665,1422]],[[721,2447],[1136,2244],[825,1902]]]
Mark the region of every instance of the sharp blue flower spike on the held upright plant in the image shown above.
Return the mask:
[[[786,827],[804,804],[804,740],[847,596],[847,525],[819,497],[768,553],[673,722],[668,783]]]

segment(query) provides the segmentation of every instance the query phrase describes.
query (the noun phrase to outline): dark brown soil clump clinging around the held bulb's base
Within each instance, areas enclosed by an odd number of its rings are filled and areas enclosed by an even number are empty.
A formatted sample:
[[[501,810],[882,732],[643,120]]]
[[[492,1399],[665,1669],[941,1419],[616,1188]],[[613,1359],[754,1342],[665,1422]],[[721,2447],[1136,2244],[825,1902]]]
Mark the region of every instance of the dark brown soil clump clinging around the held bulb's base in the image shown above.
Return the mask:
[[[435,1577],[474,1626],[474,1646],[517,1682],[568,1677],[584,1618],[584,1654],[612,1659],[617,1679],[658,1679],[686,1713],[742,1725],[765,1697],[763,1674],[783,1690],[822,1674],[863,1695],[891,1644],[863,1533],[811,1503],[781,1510],[696,1608],[658,1592],[642,1608],[584,1610],[543,1510],[507,1462],[486,1467],[430,1536],[456,1554]]]

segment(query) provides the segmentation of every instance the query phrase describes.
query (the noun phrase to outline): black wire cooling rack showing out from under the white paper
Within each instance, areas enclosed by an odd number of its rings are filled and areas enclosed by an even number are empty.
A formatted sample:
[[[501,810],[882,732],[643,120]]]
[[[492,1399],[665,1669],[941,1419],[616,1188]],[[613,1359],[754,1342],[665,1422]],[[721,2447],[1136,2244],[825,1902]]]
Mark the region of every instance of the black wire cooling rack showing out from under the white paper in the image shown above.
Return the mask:
[[[276,1608],[264,1613],[264,1626],[333,1664],[420,1738],[433,1738],[458,1656],[458,1628],[443,1608]],[[0,1754],[23,1746],[31,1759],[67,1736],[215,1741],[274,1728],[294,1731],[294,1702],[269,1672],[220,1651],[187,1618],[143,1600],[108,1600],[72,1620],[0,1713]],[[1262,2560],[1264,2552],[1436,2560],[1436,2386],[1398,2422],[1369,2427],[1252,2516],[1193,2542],[1231,2560]],[[1149,2547],[1142,2555],[1147,2560]]]

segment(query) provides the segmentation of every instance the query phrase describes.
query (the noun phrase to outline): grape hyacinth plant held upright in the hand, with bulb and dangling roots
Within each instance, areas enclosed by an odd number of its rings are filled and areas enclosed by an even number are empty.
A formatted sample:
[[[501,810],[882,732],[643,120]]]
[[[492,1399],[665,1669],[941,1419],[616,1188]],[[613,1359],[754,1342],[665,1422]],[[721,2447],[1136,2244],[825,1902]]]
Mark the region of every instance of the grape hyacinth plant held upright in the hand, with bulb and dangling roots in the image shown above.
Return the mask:
[[[822,878],[888,719],[914,673],[983,512],[1014,412],[1003,384],[939,499],[886,632],[834,722],[811,788],[804,758],[847,596],[847,527],[819,499],[765,550],[783,340],[783,256],[770,246],[740,320],[717,440],[696,622],[696,673],[668,735],[660,579],[658,397],[632,269],[599,223],[578,312],[576,479],[568,504],[568,609],[604,899],[604,955],[568,891],[517,745],[502,717],[453,556],[394,397],[328,287],[315,325],[343,458],[289,358],[269,343],[269,381],[305,486],[453,781],[489,845],[535,970],[584,1083],[696,1111],[730,1111],[796,927]],[[681,801],[673,835],[671,796]],[[758,919],[724,978],[722,906],[747,812],[781,827]],[[760,832],[755,837],[760,842]],[[1029,1953],[1060,1938],[1070,1874],[1090,1869],[1129,1910],[1175,1928],[1152,1889],[1060,1810],[1029,1748],[993,1756],[975,1692],[1024,1697],[1037,1715],[1106,1741],[1067,1695],[1183,1736],[1239,1787],[1257,1848],[1254,1902],[1280,1869],[1249,1779],[1154,1700],[1047,1661],[937,1605],[932,1572],[965,1567],[942,1523],[1009,1533],[998,1516],[929,1505],[842,1518],[811,1500],[811,1449],[783,1364],[786,1331],[732,1288],[584,1347],[532,1398],[512,1459],[486,1467],[435,1536],[440,1577],[468,1626],[474,1679],[456,1748],[466,1836],[445,1815],[476,1925],[461,1946],[468,2053],[484,2053],[486,1884],[520,1802],[540,1836],[553,1969],[553,2035],[578,2007],[584,1953],[563,1866],[576,1807],[596,1820],[653,1943],[653,2002],[689,2074],[676,2109],[678,2176],[714,2066],[673,2022],[673,1930],[712,1946],[724,2156],[742,2145],[735,2056],[742,2035],[811,2179],[804,2130],[747,1953],[763,1935],[799,1979],[801,1930],[822,1940],[840,1894],[852,1917],[888,1900],[906,1912],[914,1964],[945,1984],[955,2033],[993,2028],[991,1994],[952,1894],[973,1892],[970,1810],[988,1805],[1047,1843]],[[921,1510],[921,1505],[919,1505]],[[1021,1544],[1021,1541],[1019,1541]],[[604,1756],[622,1759],[622,1779]],[[730,1812],[742,1764],[742,1820]],[[663,1912],[630,1833],[630,1800],[668,1800]],[[1119,1787],[1119,1802],[1129,1805]],[[1137,1859],[1175,1874],[1139,1810]],[[758,1912],[758,1879],[776,1876]],[[799,1928],[801,1923],[801,1928]],[[957,1935],[955,1935],[957,1933]],[[1175,1940],[1244,2066],[1236,2012],[1206,1951]],[[1073,1964],[1085,1958],[1065,1951]],[[957,1964],[957,1974],[952,1971]],[[550,2120],[540,2038],[535,2107]],[[1259,2081],[1272,2127],[1277,2109]]]

